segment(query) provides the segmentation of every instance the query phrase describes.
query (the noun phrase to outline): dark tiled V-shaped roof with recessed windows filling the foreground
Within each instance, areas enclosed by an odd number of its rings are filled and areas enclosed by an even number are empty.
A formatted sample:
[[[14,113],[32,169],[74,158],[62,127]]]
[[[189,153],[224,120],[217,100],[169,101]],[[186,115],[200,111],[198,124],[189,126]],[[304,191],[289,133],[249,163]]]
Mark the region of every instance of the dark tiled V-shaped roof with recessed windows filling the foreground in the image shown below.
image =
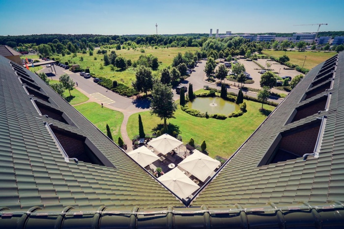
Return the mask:
[[[0,56],[0,224],[342,226],[343,68],[341,52],[312,69],[186,208],[38,76]]]

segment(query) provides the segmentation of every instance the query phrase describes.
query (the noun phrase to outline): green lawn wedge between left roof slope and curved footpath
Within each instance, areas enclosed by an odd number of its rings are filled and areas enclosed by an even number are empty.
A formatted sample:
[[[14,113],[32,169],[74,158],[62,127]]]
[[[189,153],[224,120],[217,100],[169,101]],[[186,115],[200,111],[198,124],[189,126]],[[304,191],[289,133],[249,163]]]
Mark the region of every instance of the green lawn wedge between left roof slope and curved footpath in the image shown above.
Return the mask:
[[[106,134],[106,124],[109,125],[114,141],[118,142],[118,137],[122,137],[120,126],[123,122],[123,114],[121,112],[102,107],[96,102],[86,102],[84,104],[74,106],[82,113],[94,126],[98,127]]]

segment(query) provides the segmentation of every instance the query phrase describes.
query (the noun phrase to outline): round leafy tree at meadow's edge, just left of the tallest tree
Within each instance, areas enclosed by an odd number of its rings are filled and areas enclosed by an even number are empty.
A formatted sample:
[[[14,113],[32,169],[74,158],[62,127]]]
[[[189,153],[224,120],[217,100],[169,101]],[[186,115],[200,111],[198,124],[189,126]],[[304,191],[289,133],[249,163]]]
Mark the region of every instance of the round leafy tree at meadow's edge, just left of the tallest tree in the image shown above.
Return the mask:
[[[153,88],[153,77],[150,68],[140,66],[136,71],[135,88],[148,95],[148,91]]]

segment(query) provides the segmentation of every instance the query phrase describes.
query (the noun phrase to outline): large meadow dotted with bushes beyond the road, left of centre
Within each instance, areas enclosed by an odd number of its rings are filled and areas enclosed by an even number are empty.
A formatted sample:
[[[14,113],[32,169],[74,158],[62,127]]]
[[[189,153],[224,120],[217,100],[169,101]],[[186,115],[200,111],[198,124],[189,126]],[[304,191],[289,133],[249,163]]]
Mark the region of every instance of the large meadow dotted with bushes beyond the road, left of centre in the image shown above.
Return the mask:
[[[140,49],[137,50],[115,50],[111,49],[108,50],[108,54],[111,53],[112,50],[116,52],[116,54],[119,56],[123,56],[126,59],[131,59],[132,62],[139,59],[140,55],[149,55],[152,54],[156,56],[162,63],[159,64],[159,70],[169,66],[172,64],[173,57],[178,54],[178,52],[185,53],[186,51],[197,51],[200,48],[195,47],[186,47],[186,48],[169,48],[169,49],[151,49],[147,48],[144,49],[144,53],[140,51]],[[110,77],[112,80],[117,80],[117,82],[122,82],[126,84],[127,86],[131,87],[131,82],[135,81],[135,69],[134,68],[128,68],[125,71],[119,71],[115,69],[115,71],[111,71],[111,65],[104,66],[104,61],[102,60],[104,57],[104,54],[96,54],[97,50],[93,51],[93,55],[90,56],[88,52],[86,54],[77,53],[77,57],[72,58],[71,55],[65,55],[58,57],[60,58],[60,62],[64,63],[68,60],[71,60],[73,63],[77,63],[80,65],[81,68],[89,68],[91,74],[95,73],[96,76],[103,76],[103,77]],[[80,57],[84,58],[84,61],[80,60]],[[97,60],[94,60],[94,57],[97,58]],[[104,69],[100,69],[101,65],[103,65]],[[157,74],[158,71],[153,71],[153,75]]]

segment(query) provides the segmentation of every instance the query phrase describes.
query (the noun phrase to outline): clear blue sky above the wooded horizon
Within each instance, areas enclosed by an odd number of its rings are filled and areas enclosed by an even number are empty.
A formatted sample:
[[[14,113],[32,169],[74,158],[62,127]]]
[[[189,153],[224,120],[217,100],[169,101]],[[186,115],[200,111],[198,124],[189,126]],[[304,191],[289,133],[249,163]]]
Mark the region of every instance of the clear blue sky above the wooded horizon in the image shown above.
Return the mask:
[[[344,0],[0,0],[0,35],[344,30]]]

